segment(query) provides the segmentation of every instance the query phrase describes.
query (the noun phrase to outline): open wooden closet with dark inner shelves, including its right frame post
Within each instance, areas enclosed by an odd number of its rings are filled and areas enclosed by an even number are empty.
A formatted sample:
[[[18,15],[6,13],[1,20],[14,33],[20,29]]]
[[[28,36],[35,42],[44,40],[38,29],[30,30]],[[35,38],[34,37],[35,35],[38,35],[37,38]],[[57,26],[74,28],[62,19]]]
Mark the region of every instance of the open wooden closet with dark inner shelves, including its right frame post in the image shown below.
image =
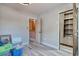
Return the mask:
[[[72,55],[77,55],[78,41],[77,41],[77,7],[73,3],[73,8],[59,13],[60,21],[60,49],[71,51]]]

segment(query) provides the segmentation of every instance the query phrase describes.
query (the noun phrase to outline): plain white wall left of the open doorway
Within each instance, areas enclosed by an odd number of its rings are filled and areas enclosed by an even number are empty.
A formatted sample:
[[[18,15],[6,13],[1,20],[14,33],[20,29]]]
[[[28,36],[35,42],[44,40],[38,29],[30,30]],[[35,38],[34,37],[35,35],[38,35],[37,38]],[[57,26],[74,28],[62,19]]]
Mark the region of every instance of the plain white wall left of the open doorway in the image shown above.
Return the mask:
[[[28,44],[28,20],[36,18],[30,13],[21,13],[8,6],[0,5],[0,34],[11,34],[12,37],[21,37]]]

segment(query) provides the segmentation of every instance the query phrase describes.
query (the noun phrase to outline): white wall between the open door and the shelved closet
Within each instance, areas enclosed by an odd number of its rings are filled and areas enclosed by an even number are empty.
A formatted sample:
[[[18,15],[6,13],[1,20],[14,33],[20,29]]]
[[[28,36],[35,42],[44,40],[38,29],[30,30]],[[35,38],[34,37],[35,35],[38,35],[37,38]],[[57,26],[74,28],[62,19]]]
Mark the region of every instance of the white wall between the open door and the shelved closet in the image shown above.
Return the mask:
[[[59,12],[72,9],[72,4],[62,4],[40,14],[42,17],[42,43],[59,49]]]

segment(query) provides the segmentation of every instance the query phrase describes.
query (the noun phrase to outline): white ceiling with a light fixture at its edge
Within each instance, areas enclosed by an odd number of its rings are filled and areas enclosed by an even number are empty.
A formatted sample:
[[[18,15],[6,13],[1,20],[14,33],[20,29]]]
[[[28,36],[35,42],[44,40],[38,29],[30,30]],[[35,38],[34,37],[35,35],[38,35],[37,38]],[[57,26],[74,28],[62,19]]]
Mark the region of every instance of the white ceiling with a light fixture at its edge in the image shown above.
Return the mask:
[[[41,14],[61,5],[61,3],[32,3],[29,6],[24,6],[19,3],[2,3],[1,5],[9,6],[22,12]]]

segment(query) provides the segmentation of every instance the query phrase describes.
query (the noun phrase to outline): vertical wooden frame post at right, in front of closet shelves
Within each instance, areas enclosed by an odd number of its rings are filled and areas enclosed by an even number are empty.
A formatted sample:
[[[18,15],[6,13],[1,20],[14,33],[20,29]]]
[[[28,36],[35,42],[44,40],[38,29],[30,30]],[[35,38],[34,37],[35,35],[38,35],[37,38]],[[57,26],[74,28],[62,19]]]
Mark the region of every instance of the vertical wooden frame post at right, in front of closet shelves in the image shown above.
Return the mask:
[[[73,32],[73,56],[78,55],[78,8],[76,6],[76,3],[73,3],[73,17],[74,17],[74,32]],[[73,23],[74,23],[73,22]]]

